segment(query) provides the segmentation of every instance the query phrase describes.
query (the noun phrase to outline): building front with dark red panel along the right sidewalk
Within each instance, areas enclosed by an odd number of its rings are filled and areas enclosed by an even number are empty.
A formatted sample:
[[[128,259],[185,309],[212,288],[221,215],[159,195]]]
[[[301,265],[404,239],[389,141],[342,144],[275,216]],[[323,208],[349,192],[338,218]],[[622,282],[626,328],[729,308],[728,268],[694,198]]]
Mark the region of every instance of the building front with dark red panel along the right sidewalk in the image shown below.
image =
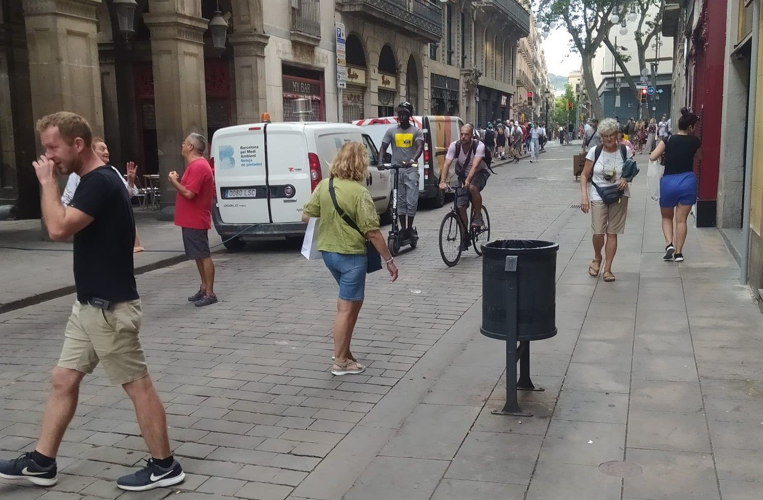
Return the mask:
[[[697,226],[716,226],[753,295],[763,292],[763,31],[760,0],[666,0],[674,37],[674,128],[700,116]],[[721,160],[723,159],[723,160]],[[759,302],[760,304],[761,302]]]

